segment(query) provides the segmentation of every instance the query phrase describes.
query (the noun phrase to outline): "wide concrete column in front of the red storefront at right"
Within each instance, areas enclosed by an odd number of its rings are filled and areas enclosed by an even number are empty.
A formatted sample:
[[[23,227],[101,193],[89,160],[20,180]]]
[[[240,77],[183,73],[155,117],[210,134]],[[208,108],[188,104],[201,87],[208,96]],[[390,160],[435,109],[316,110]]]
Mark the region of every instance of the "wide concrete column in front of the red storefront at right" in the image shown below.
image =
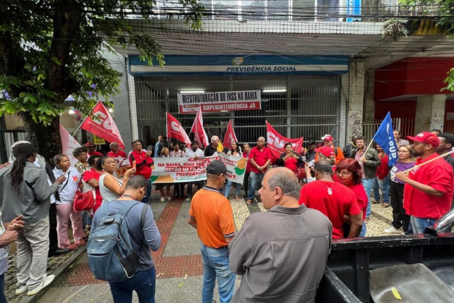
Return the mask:
[[[424,95],[416,100],[414,133],[421,131],[441,130],[445,119],[446,95]]]

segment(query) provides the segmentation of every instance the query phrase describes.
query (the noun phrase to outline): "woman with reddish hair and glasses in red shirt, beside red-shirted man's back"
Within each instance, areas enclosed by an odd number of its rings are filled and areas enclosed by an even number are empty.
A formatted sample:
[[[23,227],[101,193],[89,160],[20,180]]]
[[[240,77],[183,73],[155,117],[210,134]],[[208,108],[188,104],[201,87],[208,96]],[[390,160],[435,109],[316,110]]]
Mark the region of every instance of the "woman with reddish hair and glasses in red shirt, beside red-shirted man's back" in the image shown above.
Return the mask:
[[[345,158],[339,161],[335,173],[339,177],[340,182],[350,188],[356,195],[358,206],[363,211],[363,229],[359,237],[364,237],[366,236],[364,218],[366,217],[368,198],[364,187],[361,185],[361,166],[355,159]]]

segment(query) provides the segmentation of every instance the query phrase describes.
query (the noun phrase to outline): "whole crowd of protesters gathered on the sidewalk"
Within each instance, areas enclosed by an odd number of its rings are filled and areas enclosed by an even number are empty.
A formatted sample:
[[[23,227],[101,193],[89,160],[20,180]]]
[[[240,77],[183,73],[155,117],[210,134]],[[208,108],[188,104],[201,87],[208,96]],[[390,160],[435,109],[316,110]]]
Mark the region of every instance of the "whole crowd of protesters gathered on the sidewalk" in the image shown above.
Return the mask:
[[[0,169],[0,284],[14,241],[16,294],[30,296],[54,279],[46,275],[48,257],[87,245],[90,269],[109,282],[114,302],[131,302],[133,291],[139,302],[154,302],[151,251],[159,249],[161,234],[153,203],[182,198],[191,203],[188,223],[201,241],[203,302],[213,302],[216,280],[220,302],[313,302],[331,241],[365,237],[371,203],[392,207],[392,226],[384,232],[395,235],[424,233],[453,205],[451,133],[421,132],[405,140],[395,130],[390,143],[375,136],[373,147],[372,138],[353,135],[343,149],[326,134],[307,148],[302,140],[299,147],[287,142],[277,156],[265,137],[250,146],[236,137],[221,143],[217,135],[209,141],[204,135],[180,140],[184,145],[163,135],[148,147],[135,140],[128,155],[117,142],[107,154],[87,142],[52,159],[27,141],[16,142]],[[241,183],[230,178],[220,154],[247,159]],[[161,158],[209,157],[206,181],[152,180]],[[121,175],[119,158],[129,160]],[[160,201],[150,201],[153,186]],[[268,210],[250,215],[239,231],[228,199],[233,187],[236,201],[244,190],[246,204],[256,203],[258,191]],[[242,280],[235,291],[236,275]]]

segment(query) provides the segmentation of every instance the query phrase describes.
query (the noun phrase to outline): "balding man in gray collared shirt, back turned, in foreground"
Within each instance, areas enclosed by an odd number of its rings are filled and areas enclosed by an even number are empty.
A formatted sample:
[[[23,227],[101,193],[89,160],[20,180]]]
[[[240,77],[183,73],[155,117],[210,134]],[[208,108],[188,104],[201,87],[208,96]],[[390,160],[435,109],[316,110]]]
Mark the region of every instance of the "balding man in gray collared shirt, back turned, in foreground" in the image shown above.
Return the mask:
[[[265,175],[259,191],[268,212],[250,215],[229,244],[230,269],[242,275],[232,302],[313,302],[330,254],[332,226],[299,205],[287,168]]]

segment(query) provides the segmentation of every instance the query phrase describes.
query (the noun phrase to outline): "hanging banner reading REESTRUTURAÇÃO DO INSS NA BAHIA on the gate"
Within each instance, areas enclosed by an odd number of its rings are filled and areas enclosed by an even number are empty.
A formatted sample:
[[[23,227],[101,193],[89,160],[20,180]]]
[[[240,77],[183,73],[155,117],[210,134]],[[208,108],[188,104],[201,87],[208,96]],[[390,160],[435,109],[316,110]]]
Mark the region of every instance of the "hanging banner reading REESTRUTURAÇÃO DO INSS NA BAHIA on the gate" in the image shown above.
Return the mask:
[[[260,90],[185,92],[177,94],[180,113],[260,109]]]

